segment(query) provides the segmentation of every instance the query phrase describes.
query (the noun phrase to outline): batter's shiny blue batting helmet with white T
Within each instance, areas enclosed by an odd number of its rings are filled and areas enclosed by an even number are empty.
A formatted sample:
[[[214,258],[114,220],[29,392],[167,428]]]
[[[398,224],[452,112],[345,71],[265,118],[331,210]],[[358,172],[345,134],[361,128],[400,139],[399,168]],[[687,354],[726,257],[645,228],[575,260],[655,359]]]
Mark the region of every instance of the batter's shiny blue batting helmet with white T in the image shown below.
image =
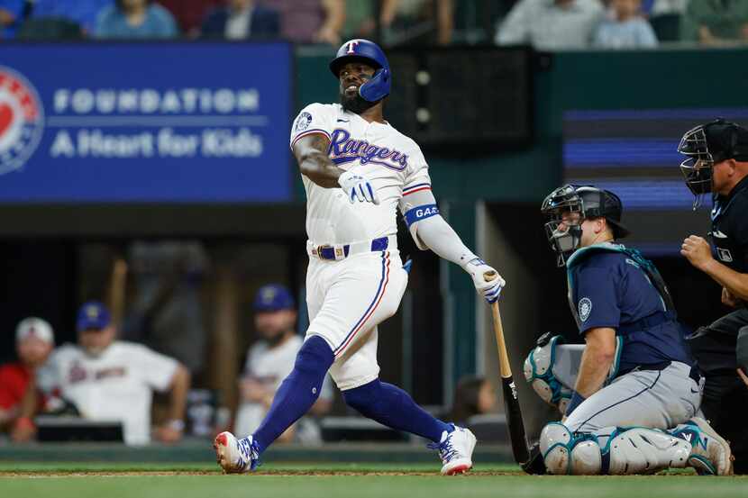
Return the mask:
[[[338,53],[330,62],[330,70],[335,77],[339,77],[343,64],[351,62],[351,59],[363,59],[374,66],[377,71],[374,77],[360,86],[359,95],[367,102],[377,102],[389,95],[392,87],[392,77],[389,71],[389,63],[385,53],[379,45],[369,40],[351,40],[342,44]]]

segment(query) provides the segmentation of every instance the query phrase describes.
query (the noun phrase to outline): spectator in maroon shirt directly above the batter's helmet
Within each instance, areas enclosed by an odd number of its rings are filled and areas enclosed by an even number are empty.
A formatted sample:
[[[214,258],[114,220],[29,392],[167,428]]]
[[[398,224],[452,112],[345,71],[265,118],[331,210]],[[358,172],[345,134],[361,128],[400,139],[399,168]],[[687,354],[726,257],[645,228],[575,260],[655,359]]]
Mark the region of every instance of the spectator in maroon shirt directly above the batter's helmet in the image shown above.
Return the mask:
[[[280,13],[283,38],[296,43],[341,44],[345,0],[264,0]]]

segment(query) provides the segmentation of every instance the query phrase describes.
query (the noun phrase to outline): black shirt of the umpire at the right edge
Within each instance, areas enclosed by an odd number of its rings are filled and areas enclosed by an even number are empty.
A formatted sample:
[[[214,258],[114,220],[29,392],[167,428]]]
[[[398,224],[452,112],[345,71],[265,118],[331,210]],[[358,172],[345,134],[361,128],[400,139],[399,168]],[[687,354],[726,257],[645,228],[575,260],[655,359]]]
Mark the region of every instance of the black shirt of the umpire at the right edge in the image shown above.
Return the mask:
[[[738,273],[748,274],[748,177],[729,195],[718,195],[712,209],[714,257]]]

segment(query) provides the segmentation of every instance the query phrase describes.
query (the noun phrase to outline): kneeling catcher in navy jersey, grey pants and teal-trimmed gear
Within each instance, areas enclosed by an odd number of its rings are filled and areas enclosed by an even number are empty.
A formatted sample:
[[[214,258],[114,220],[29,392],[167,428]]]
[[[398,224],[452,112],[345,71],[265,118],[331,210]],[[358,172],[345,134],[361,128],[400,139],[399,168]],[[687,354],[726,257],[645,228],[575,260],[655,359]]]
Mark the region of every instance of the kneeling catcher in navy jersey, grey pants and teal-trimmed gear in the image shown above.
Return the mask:
[[[561,186],[543,201],[586,343],[564,417],[541,432],[546,470],[729,474],[729,445],[695,416],[703,382],[667,287],[652,262],[615,242],[628,234],[622,210],[615,194],[593,186]]]

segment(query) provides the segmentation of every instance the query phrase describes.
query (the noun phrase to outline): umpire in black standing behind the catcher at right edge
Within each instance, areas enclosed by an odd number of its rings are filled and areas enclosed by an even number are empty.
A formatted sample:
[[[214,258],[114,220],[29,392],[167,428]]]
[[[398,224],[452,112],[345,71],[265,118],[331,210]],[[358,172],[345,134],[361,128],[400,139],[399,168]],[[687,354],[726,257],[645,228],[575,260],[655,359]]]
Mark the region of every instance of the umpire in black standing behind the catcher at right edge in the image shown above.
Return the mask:
[[[691,235],[680,254],[722,285],[722,303],[734,308],[690,338],[707,376],[701,407],[731,440],[735,473],[746,474],[748,382],[744,385],[740,374],[748,374],[748,130],[724,120],[707,122],[687,131],[678,150],[688,157],[680,169],[696,195],[694,208],[707,193],[714,201],[711,250],[707,240]]]

